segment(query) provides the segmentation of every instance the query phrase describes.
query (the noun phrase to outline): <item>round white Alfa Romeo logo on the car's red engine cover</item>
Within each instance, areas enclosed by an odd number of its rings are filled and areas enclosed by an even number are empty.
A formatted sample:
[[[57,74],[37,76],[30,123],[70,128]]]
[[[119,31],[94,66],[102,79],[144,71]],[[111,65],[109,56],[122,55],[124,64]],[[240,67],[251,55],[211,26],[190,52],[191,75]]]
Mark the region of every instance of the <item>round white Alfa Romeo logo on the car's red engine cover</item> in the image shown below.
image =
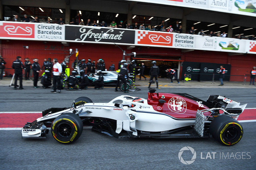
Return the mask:
[[[168,102],[168,107],[175,113],[185,113],[187,110],[187,103],[181,97],[175,96]]]

